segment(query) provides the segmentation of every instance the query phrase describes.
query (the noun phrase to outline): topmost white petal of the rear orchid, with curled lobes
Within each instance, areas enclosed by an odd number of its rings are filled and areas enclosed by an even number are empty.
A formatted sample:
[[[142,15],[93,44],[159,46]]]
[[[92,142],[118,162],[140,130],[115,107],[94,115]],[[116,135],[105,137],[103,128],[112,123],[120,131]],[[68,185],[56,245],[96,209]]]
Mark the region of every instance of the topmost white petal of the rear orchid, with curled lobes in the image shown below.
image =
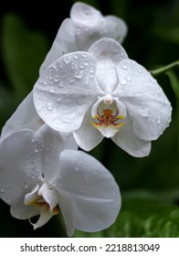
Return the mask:
[[[70,17],[76,27],[79,49],[87,50],[102,37],[122,41],[127,34],[127,26],[115,16],[102,16],[100,11],[84,3],[72,6]]]

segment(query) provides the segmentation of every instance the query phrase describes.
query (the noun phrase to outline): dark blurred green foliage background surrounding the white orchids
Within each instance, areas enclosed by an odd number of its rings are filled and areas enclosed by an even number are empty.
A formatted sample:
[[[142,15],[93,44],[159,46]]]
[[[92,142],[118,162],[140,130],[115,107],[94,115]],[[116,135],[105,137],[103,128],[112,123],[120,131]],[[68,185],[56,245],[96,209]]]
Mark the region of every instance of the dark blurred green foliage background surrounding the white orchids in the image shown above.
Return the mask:
[[[62,20],[73,3],[7,1],[1,9],[0,127],[32,90]],[[177,0],[84,0],[103,15],[120,16],[129,27],[123,47],[146,69],[168,65],[178,57],[179,2]],[[21,5],[21,10],[18,8]],[[127,155],[111,140],[90,154],[98,158],[121,187],[121,213],[110,229],[97,233],[76,231],[76,237],[179,237],[179,74],[178,67],[156,79],[173,105],[173,120],[155,142],[148,157]],[[32,230],[28,221],[13,219],[0,202],[0,237],[64,237],[64,223],[51,219]],[[62,226],[61,226],[62,225]],[[57,228],[58,227],[58,228]]]

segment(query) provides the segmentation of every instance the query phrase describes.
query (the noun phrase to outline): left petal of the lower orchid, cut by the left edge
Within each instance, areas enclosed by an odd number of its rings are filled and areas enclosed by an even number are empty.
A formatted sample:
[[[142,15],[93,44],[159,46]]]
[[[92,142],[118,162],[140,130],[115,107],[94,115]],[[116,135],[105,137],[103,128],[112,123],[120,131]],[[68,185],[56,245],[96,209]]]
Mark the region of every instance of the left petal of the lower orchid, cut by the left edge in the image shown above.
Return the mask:
[[[0,144],[0,197],[16,204],[41,181],[42,138],[31,130],[12,133]]]

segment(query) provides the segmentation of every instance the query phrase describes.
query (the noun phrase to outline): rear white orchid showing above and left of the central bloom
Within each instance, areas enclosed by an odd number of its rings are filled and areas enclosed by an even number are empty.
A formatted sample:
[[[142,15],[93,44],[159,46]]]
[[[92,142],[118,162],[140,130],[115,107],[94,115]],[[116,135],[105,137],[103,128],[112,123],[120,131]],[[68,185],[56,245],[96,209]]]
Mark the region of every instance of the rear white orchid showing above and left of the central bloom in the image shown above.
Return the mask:
[[[62,55],[86,50],[101,37],[112,37],[121,42],[126,34],[127,26],[120,18],[102,16],[100,11],[90,5],[75,3],[72,5],[70,18],[66,18],[59,27],[58,35],[47,53],[47,58],[42,63],[39,73],[42,74],[53,61]],[[19,129],[37,131],[43,123],[35,109],[31,91],[5,123],[0,142]]]

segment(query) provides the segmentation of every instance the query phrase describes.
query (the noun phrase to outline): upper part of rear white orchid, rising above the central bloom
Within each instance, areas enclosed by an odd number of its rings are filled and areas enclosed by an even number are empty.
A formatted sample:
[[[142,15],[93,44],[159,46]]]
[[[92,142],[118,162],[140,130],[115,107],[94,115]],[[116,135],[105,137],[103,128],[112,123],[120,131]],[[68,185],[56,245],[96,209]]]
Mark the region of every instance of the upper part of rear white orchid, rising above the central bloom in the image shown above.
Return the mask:
[[[100,11],[84,3],[75,3],[58,29],[47,58],[40,68],[40,73],[56,59],[69,52],[88,50],[102,37],[111,37],[122,42],[128,28],[121,18],[102,16]]]

